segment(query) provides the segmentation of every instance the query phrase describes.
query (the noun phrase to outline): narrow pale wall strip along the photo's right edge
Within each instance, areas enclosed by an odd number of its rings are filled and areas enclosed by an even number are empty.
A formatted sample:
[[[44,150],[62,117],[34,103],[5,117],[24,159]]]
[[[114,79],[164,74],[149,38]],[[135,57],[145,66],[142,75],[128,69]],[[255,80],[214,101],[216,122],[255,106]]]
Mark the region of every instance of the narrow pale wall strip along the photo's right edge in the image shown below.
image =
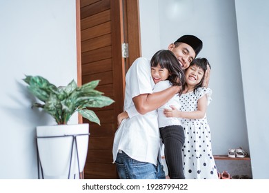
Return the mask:
[[[269,1],[235,0],[252,174],[269,179]]]

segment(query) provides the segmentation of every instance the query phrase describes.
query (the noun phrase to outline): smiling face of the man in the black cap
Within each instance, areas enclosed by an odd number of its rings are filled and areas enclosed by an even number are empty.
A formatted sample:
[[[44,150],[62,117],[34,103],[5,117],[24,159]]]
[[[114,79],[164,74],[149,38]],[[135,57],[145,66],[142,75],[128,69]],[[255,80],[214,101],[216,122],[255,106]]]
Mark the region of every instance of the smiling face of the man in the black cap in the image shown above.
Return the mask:
[[[175,54],[183,70],[187,69],[193,59],[195,59],[195,50],[186,43],[180,43],[177,47],[175,47],[174,43],[171,43],[168,50]]]

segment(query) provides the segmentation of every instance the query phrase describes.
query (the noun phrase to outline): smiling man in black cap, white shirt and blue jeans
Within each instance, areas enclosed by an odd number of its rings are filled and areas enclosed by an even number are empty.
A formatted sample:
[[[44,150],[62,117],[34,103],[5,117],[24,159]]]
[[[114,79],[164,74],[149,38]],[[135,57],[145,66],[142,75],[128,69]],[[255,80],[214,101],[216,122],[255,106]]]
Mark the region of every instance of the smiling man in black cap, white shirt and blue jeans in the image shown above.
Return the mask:
[[[202,47],[200,39],[184,35],[171,43],[168,50],[175,54],[182,68],[186,69]],[[136,59],[126,74],[124,110],[127,110],[130,119],[122,121],[114,136],[113,162],[117,164],[120,179],[166,178],[158,159],[160,135],[156,110],[177,94],[179,86],[152,93],[154,85],[150,61]],[[133,105],[139,114],[131,110]]]

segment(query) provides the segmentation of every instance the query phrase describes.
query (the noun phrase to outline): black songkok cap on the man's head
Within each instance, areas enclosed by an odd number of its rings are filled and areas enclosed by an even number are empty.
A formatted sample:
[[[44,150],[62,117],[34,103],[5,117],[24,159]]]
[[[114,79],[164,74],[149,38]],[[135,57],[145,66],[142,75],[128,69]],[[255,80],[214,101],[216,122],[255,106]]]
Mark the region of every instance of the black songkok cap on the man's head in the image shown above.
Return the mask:
[[[187,43],[188,45],[190,45],[190,47],[192,47],[192,49],[195,50],[195,54],[196,54],[195,57],[197,57],[197,55],[203,48],[203,41],[201,41],[201,39],[199,39],[198,37],[194,35],[184,35],[180,37],[179,39],[177,39],[177,41],[175,41],[175,43],[177,42]]]

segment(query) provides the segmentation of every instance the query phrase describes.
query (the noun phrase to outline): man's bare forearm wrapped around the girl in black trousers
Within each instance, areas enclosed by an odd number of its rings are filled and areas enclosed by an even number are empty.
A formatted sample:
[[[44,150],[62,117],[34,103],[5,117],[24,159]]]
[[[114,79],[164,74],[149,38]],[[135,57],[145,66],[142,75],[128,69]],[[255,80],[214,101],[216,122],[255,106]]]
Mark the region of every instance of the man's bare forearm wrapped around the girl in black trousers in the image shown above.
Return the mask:
[[[140,114],[146,114],[152,110],[157,110],[161,105],[172,99],[172,96],[179,92],[179,86],[171,86],[166,90],[160,92],[153,92],[152,94],[139,94],[132,98],[135,103],[135,108]]]

